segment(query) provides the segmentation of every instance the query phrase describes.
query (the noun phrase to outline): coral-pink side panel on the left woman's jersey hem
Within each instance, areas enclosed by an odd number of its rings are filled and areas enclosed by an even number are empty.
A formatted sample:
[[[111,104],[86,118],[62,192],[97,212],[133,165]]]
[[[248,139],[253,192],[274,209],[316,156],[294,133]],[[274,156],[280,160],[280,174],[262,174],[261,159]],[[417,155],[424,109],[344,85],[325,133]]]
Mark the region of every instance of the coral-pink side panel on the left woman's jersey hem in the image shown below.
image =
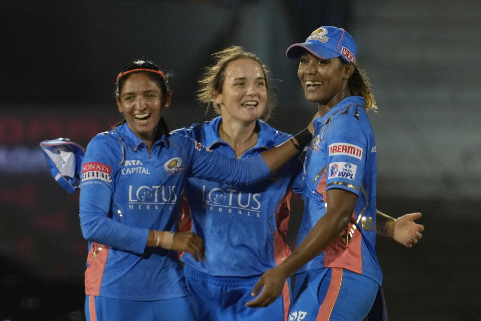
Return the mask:
[[[99,250],[99,247],[102,249]],[[89,255],[87,256],[89,266],[85,270],[86,295],[100,295],[100,284],[102,283],[102,276],[104,275],[105,263],[109,256],[109,249],[110,247],[107,245],[102,246],[98,243],[92,243]]]

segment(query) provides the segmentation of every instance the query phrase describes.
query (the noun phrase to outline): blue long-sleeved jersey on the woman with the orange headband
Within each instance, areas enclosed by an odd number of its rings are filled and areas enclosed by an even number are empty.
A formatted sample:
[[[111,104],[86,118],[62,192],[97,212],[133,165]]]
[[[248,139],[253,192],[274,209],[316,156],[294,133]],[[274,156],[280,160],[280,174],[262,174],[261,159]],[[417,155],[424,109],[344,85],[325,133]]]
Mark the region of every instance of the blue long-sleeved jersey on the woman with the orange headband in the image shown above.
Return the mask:
[[[163,119],[150,153],[127,126],[100,133],[82,163],[80,221],[89,240],[87,295],[158,300],[188,294],[176,251],[145,248],[149,230],[175,231],[188,176],[253,184],[269,176],[261,155],[212,153]]]

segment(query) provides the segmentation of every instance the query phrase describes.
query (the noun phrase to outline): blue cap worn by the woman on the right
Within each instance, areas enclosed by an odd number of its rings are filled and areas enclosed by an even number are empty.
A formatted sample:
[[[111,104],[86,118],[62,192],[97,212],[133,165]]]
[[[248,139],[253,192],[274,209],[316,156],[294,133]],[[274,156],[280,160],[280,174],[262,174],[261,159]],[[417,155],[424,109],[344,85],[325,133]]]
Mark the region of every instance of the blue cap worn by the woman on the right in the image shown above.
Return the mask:
[[[342,57],[347,62],[356,62],[356,43],[342,28],[320,27],[305,42],[287,48],[286,55],[296,59],[306,50],[321,59]]]

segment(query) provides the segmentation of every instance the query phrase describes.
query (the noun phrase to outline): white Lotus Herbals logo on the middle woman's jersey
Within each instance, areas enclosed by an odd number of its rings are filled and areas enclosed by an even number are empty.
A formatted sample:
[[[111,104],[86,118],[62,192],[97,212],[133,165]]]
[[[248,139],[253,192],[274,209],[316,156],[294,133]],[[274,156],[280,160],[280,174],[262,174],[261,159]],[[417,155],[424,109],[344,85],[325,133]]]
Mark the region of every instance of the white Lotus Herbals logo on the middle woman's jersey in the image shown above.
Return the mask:
[[[245,193],[233,189],[208,189],[202,186],[202,203],[204,209],[218,213],[261,217],[261,194]]]

